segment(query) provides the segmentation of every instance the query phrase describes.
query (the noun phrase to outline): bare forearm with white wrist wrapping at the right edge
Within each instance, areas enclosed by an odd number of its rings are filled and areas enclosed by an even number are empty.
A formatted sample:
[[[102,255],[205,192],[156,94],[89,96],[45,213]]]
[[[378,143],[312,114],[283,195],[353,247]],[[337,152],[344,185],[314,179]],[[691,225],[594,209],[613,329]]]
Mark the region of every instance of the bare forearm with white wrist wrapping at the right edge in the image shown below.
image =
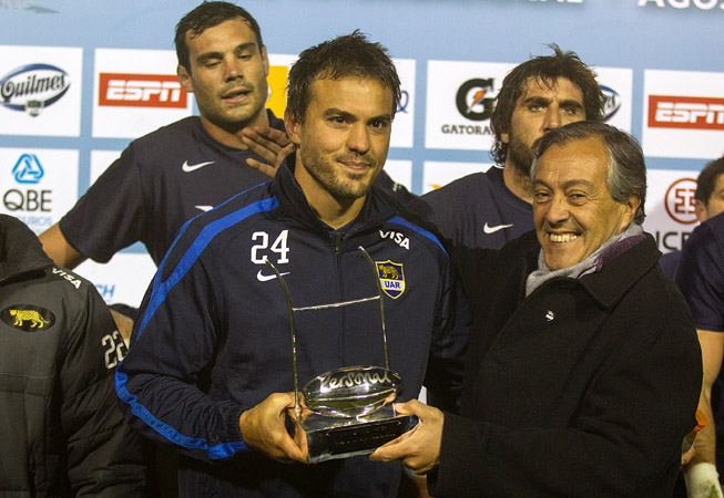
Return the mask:
[[[712,386],[722,369],[724,355],[724,332],[697,330],[698,343],[702,347],[702,365],[704,378],[698,409],[704,412],[707,424],[696,436],[694,447],[696,454],[686,467],[686,488],[690,497],[721,497],[716,473],[716,429],[712,412]]]

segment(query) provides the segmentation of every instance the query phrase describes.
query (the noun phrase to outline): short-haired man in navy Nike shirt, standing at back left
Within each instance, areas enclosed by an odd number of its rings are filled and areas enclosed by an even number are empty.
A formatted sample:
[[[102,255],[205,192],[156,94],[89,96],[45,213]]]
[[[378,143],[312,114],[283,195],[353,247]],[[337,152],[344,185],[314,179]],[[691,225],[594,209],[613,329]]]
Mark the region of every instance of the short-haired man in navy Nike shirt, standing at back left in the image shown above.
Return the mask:
[[[58,264],[108,262],[141,241],[157,266],[184,222],[268,181],[274,168],[264,162],[278,165],[292,151],[284,123],[265,108],[269,61],[252,14],[224,1],[201,3],[181,19],[174,41],[179,81],[195,94],[200,116],[132,142],[40,236]],[[409,196],[386,174],[378,178],[394,196]],[[132,323],[114,318],[128,336]]]

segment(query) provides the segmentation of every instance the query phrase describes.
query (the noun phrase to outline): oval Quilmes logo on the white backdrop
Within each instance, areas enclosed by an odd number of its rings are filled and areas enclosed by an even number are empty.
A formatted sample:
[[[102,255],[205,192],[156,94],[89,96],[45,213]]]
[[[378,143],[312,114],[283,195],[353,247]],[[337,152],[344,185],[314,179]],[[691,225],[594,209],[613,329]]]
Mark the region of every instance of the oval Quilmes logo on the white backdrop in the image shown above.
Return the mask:
[[[43,108],[61,100],[69,87],[70,76],[62,69],[50,64],[28,64],[2,76],[1,104],[38,116]]]

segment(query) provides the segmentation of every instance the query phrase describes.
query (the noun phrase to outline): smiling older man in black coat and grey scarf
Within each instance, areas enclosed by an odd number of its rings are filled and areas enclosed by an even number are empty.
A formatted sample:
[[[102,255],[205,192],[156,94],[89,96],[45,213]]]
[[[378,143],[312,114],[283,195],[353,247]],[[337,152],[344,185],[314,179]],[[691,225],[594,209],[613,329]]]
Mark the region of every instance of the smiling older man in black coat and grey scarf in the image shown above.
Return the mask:
[[[371,458],[431,473],[436,497],[672,496],[695,425],[701,352],[643,231],[646,169],[626,133],[572,123],[531,168],[536,231],[481,266],[461,416],[421,423]]]

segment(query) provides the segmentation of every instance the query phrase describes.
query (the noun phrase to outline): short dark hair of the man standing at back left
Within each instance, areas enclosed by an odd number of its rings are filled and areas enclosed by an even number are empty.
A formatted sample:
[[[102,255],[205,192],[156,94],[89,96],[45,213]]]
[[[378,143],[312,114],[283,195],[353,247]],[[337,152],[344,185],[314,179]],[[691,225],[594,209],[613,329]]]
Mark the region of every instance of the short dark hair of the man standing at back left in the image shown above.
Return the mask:
[[[196,38],[208,28],[213,28],[224,21],[236,18],[242,18],[244,21],[248,22],[249,28],[254,31],[256,44],[261,51],[262,46],[264,46],[264,43],[262,42],[262,30],[259,29],[256,19],[254,19],[251,13],[230,2],[205,1],[184,15],[181,21],[179,21],[179,24],[176,24],[174,43],[176,44],[176,58],[179,59],[179,64],[184,66],[186,71],[191,72],[186,33],[191,33],[191,38]]]

